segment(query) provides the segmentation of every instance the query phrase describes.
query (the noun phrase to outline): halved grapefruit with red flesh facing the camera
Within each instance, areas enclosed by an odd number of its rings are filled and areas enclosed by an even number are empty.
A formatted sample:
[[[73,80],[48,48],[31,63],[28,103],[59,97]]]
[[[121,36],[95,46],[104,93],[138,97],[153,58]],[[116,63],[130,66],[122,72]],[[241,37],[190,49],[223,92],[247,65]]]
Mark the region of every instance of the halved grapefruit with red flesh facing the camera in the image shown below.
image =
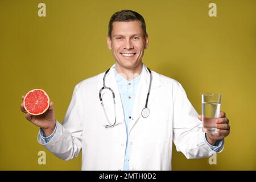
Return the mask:
[[[31,115],[40,115],[49,108],[49,96],[42,89],[30,90],[23,99],[24,108]]]

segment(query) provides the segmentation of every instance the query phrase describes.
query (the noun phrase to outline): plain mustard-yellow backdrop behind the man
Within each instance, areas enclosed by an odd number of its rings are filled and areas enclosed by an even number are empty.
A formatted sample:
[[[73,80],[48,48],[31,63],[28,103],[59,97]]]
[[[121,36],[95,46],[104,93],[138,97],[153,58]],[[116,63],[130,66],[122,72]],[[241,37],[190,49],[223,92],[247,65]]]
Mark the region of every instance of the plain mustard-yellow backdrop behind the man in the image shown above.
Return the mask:
[[[46,3],[46,17],[38,3]],[[209,17],[209,3],[217,17]],[[231,134],[217,164],[174,152],[174,170],[255,170],[256,1],[0,1],[0,169],[80,170],[36,140],[38,128],[24,118],[22,94],[42,88],[62,121],[74,86],[104,72],[114,60],[106,47],[110,16],[122,9],[146,20],[150,44],[143,62],[175,78],[201,113],[201,93],[221,93]],[[39,151],[46,165],[39,165]]]

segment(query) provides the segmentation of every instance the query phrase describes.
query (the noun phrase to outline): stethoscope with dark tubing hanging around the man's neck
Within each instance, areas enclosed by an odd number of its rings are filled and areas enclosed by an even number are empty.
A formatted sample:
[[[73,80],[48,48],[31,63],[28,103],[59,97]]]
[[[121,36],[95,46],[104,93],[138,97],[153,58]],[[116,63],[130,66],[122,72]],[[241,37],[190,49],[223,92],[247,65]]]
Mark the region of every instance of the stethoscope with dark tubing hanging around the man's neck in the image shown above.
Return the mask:
[[[105,127],[114,127],[115,126],[115,122],[117,121],[117,113],[116,113],[116,110],[115,110],[115,93],[114,93],[114,91],[111,88],[109,88],[108,86],[105,85],[105,78],[106,78],[106,75],[108,74],[109,70],[110,70],[110,68],[104,74],[104,77],[103,77],[103,87],[100,89],[100,92],[98,94],[99,94],[99,97],[100,97],[101,106],[102,106],[102,108],[104,110],[106,119],[108,120],[108,123],[109,123],[109,125],[105,125]],[[150,114],[150,109],[148,109],[148,107],[147,107],[147,102],[148,102],[148,97],[150,95],[150,90],[151,90],[152,73],[151,73],[149,68],[147,68],[147,70],[150,73],[150,84],[148,86],[146,104],[145,104],[145,107],[141,111],[141,115],[142,115],[143,118],[147,118],[148,115]],[[112,92],[112,97],[113,97],[113,102],[114,102],[114,112],[115,112],[115,121],[114,121],[113,125],[111,125],[111,123],[109,122],[109,118],[108,118],[108,115],[106,114],[106,110],[105,110],[105,107],[104,107],[104,104],[103,104],[103,101],[102,101],[101,92],[104,89],[109,89]]]

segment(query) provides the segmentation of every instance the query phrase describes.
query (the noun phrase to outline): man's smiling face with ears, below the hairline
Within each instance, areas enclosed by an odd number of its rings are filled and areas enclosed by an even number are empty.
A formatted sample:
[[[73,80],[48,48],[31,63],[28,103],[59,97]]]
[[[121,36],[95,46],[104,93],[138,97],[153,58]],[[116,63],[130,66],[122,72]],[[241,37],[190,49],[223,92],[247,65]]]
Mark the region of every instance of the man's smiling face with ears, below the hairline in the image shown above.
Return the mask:
[[[141,22],[114,22],[112,38],[107,37],[115,63],[122,68],[135,68],[141,63],[148,37],[144,38]]]

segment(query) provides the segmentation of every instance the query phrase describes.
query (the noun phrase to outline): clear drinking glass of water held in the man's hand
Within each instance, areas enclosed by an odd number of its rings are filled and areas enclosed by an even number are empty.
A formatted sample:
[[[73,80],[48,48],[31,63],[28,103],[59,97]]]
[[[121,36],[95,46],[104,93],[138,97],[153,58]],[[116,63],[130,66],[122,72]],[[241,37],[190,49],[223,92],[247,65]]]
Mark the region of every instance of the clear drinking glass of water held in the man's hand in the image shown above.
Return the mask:
[[[216,118],[220,114],[221,94],[202,94],[203,132],[218,133],[215,127]]]

